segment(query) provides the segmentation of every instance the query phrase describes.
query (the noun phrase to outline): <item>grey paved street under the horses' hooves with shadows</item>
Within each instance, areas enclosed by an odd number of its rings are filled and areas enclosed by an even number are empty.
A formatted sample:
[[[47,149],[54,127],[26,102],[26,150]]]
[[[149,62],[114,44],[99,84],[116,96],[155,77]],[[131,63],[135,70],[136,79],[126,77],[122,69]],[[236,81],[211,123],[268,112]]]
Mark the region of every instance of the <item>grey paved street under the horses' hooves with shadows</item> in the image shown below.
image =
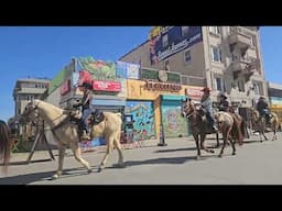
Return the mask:
[[[272,133],[267,134],[272,137]],[[113,151],[108,168],[96,173],[105,155],[101,151],[84,153],[83,157],[93,166],[87,174],[67,151],[65,174],[57,180],[50,180],[57,168],[56,160],[48,159],[48,153],[37,151],[32,163],[26,165],[28,154],[13,154],[7,176],[0,175],[0,184],[17,185],[281,185],[282,184],[282,134],[278,141],[259,142],[259,136],[237,145],[237,155],[231,156],[227,146],[225,156],[203,152],[203,158],[195,160],[195,143],[191,138],[166,140],[167,146],[156,146],[159,141],[144,147],[124,149],[126,168],[115,168],[118,153]],[[213,147],[215,140],[207,140]]]

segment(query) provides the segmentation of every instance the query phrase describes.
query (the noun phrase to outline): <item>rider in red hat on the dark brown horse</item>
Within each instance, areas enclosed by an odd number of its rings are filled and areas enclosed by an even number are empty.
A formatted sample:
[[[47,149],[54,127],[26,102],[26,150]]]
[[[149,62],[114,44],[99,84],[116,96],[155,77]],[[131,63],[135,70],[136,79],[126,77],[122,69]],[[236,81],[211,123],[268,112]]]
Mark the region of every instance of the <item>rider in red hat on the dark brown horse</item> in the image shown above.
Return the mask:
[[[204,95],[200,100],[200,106],[203,110],[206,112],[207,119],[212,123],[214,132],[217,132],[215,119],[213,116],[213,101],[210,98],[210,90],[208,87],[205,87],[202,91],[204,92]]]

